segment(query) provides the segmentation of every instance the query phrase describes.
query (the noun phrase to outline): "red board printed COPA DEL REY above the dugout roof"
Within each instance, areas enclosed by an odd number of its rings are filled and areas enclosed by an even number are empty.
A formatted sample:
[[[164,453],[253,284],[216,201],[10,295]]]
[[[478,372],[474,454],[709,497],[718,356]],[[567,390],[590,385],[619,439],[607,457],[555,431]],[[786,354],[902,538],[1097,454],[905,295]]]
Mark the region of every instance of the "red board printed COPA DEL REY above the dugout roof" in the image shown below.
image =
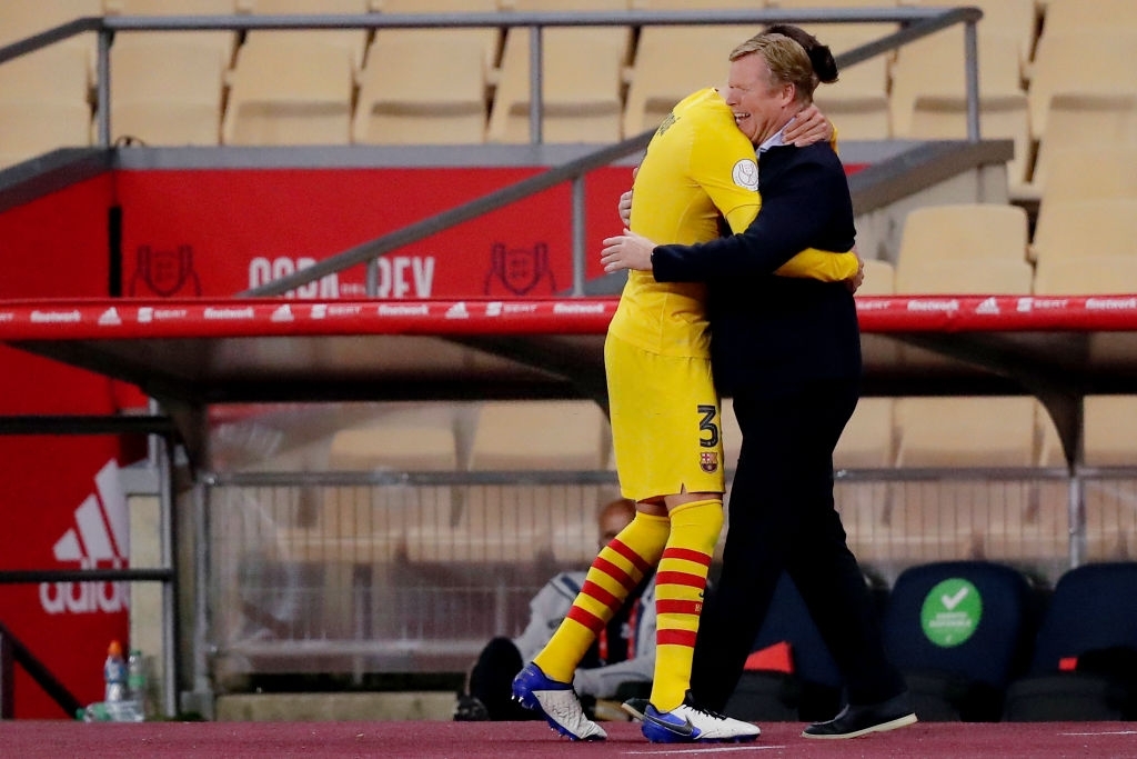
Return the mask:
[[[217,297],[255,288],[538,173],[538,168],[171,170],[119,172],[123,292]],[[620,231],[626,167],[586,180],[589,277]],[[572,287],[572,188],[520,200],[379,262],[380,299],[547,298]],[[363,266],[301,298],[366,296]]]

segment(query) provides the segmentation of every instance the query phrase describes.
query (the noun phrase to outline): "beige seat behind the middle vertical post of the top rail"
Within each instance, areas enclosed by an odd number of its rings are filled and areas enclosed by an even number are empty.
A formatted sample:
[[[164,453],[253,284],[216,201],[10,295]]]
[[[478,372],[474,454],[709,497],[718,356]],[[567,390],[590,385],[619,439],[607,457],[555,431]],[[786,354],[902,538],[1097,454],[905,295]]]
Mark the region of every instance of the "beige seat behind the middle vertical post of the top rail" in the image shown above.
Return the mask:
[[[504,10],[626,10],[626,0],[516,0]],[[529,30],[507,31],[490,110],[489,142],[529,142]],[[630,27],[554,27],[541,34],[543,142],[615,142],[623,119]]]

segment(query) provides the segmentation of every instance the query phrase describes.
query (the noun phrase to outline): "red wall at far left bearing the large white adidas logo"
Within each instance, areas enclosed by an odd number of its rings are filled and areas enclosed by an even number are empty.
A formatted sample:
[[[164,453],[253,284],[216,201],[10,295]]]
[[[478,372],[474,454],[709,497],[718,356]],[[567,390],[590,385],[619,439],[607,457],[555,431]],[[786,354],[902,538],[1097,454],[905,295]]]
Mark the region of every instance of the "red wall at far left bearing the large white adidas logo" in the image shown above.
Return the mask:
[[[105,296],[109,175],[0,214],[0,298]],[[113,383],[0,346],[0,413],[106,414]],[[0,569],[123,568],[126,503],[114,436],[0,436]],[[117,583],[0,585],[0,621],[81,701],[102,698],[102,660],[126,641],[130,595]],[[73,717],[20,668],[16,717]]]

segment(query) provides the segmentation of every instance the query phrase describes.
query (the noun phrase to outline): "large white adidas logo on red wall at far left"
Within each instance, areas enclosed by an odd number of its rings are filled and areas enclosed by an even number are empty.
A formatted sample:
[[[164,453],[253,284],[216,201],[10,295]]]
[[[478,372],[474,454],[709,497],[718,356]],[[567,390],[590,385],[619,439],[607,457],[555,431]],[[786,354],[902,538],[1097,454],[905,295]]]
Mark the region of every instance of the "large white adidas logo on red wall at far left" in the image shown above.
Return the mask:
[[[130,525],[114,460],[94,476],[94,488],[75,510],[75,527],[56,542],[56,561],[75,562],[81,569],[123,569]],[[40,604],[49,614],[110,613],[128,609],[130,595],[126,583],[40,583]]]

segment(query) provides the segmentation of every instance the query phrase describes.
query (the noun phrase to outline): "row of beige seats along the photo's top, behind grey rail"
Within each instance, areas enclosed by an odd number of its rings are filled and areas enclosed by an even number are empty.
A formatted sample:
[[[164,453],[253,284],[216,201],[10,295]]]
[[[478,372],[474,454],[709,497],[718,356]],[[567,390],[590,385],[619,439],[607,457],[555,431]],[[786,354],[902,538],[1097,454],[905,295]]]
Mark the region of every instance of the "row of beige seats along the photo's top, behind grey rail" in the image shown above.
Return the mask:
[[[880,7],[885,0],[9,0],[5,40],[77,15],[357,14],[508,10]],[[938,6],[933,0],[897,5]],[[1137,39],[1137,5],[1101,0],[978,0],[984,134],[1015,142],[1012,188],[1038,196],[1051,145],[1137,143],[1137,74],[1123,56]],[[1107,7],[1106,7],[1107,6]],[[1044,11],[1045,10],[1045,15]],[[879,39],[890,25],[811,26],[835,52]],[[658,123],[679,98],[722,84],[729,49],[749,27],[714,25],[550,28],[545,42],[542,139],[611,142]],[[524,142],[529,134],[528,30],[255,30],[122,33],[113,48],[113,137],[151,145]],[[90,82],[86,66],[43,59],[42,81]],[[966,133],[963,38],[936,33],[849,67],[819,102],[843,139],[958,139]],[[31,61],[28,61],[31,63]],[[0,71],[13,66],[0,66]],[[218,66],[221,74],[218,75]],[[83,69],[82,72],[80,69]],[[290,86],[285,86],[288,83]],[[45,88],[47,89],[47,88]],[[0,101],[8,99],[0,85]],[[90,143],[91,124],[69,100],[64,145]],[[25,102],[27,101],[24,98]],[[16,132],[39,106],[0,127]],[[8,109],[10,110],[10,108]],[[58,104],[42,119],[59,119]],[[1053,118],[1052,118],[1053,114]],[[1053,129],[1052,129],[1053,127]],[[1044,139],[1051,133],[1051,140]],[[53,147],[52,135],[30,135]],[[9,151],[14,155],[16,151]],[[1037,154],[1037,158],[1036,158]]]

